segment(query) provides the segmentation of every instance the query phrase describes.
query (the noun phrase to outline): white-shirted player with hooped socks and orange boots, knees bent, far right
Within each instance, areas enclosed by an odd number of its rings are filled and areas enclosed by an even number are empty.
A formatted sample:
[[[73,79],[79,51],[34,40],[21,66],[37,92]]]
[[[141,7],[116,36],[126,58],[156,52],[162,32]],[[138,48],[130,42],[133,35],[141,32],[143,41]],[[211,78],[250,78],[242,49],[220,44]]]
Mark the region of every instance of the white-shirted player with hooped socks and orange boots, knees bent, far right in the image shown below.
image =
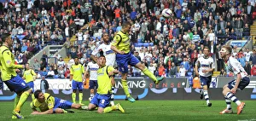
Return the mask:
[[[235,79],[232,80],[229,84],[224,85],[223,87],[223,95],[225,97],[225,101],[227,104],[227,108],[225,108],[220,114],[224,113],[232,113],[231,101],[235,102],[237,105],[237,114],[240,114],[243,107],[245,107],[245,103],[239,101],[236,98],[236,91],[244,89],[248,84],[250,84],[250,78],[248,78],[247,72],[241,66],[241,63],[233,58],[232,49],[230,46],[224,46],[220,50],[220,56],[224,60],[225,65],[228,67],[230,72],[235,74]]]

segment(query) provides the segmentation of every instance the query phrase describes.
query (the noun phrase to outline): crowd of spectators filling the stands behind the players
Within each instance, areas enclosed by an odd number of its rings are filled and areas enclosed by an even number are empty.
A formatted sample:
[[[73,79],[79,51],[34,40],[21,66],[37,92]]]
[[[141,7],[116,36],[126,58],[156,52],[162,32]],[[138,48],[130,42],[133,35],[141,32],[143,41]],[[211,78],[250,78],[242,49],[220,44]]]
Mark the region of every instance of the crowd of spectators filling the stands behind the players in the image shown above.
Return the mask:
[[[102,32],[108,32],[111,41],[123,21],[133,25],[131,52],[155,75],[193,74],[205,46],[221,71],[220,47],[230,39],[247,39],[256,12],[251,0],[7,0],[0,9],[0,35],[11,32],[17,63],[25,64],[48,44],[63,44],[67,49],[68,63],[60,55],[55,55],[58,61],[53,64],[46,54],[34,60],[38,78],[68,78],[75,57],[86,66],[92,50],[102,43]],[[161,17],[163,9],[172,9],[172,18]],[[77,36],[74,43],[73,35]],[[129,66],[130,77],[142,74]]]

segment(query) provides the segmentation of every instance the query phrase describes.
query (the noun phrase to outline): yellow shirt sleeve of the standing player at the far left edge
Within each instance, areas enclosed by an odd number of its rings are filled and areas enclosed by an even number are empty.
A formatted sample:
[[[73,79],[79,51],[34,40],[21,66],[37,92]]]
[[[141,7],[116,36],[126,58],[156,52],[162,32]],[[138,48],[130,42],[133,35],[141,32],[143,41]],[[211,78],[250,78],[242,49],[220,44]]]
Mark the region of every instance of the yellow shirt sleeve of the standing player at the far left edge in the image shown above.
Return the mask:
[[[8,68],[22,68],[22,65],[15,65],[15,63],[12,60],[12,53],[10,51],[4,51],[3,52],[3,62],[5,63],[6,67]]]

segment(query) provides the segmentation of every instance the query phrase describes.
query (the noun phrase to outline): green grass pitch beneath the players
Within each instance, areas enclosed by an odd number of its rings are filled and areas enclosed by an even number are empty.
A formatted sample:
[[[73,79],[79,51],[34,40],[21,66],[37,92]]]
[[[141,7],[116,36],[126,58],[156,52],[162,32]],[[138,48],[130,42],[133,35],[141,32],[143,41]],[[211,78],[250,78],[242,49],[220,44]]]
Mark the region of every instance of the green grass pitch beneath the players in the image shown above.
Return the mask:
[[[88,104],[88,101],[84,101]],[[31,115],[29,102],[21,109],[24,120],[27,121],[169,121],[169,120],[256,120],[256,101],[245,101],[246,107],[240,115],[236,114],[236,104],[232,103],[233,114],[218,114],[226,105],[225,101],[212,101],[212,107],[207,107],[206,101],[115,101],[125,109],[125,113],[113,111],[106,114],[98,114],[96,111],[73,110],[74,113]],[[0,120],[11,120],[13,101],[0,101]]]

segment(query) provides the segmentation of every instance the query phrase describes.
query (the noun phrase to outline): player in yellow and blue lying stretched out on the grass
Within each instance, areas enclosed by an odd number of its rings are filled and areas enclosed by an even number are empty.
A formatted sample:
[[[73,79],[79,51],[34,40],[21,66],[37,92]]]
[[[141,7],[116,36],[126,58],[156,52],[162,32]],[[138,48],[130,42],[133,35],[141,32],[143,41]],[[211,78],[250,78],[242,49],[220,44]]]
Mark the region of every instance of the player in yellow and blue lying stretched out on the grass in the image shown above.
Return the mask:
[[[67,113],[73,112],[66,109],[85,109],[86,106],[75,104],[71,101],[66,101],[53,97],[48,93],[43,93],[42,90],[38,89],[34,92],[35,100],[30,104],[33,112],[32,114],[52,114],[52,113]],[[37,107],[41,112],[38,112]]]

